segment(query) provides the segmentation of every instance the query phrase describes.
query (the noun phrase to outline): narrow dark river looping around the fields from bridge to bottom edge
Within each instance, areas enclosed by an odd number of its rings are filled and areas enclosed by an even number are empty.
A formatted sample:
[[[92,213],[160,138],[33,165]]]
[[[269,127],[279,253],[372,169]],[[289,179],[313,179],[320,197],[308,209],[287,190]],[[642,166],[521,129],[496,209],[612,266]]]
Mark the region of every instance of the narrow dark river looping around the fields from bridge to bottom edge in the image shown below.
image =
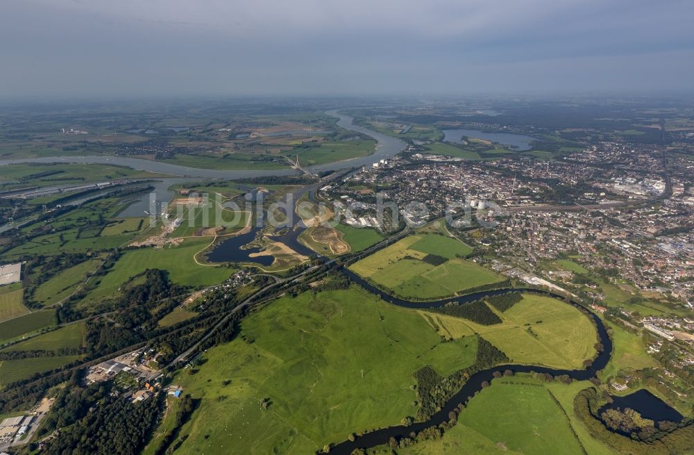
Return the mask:
[[[341,272],[346,274],[352,281],[359,284],[359,286],[362,286],[362,288],[368,290],[369,292],[372,292],[375,295],[378,295],[378,297],[380,297],[381,299],[384,299],[390,304],[403,306],[405,308],[438,308],[452,301],[455,301],[459,304],[465,304],[471,301],[482,299],[482,297],[505,294],[506,292],[533,292],[545,295],[547,297],[554,297],[555,299],[564,299],[564,296],[557,295],[554,292],[545,290],[508,288],[474,292],[473,294],[468,294],[461,297],[452,297],[449,299],[437,301],[407,301],[388,295],[386,292],[383,292],[382,290],[376,288],[371,283],[362,279],[361,276],[355,274],[351,270],[343,268],[341,269]],[[576,308],[585,309],[584,306],[578,304],[575,301],[571,301],[570,305],[575,306]],[[576,381],[585,381],[586,379],[591,379],[592,377],[595,377],[598,370],[602,370],[611,358],[612,340],[607,335],[607,330],[605,329],[604,324],[602,324],[600,317],[598,317],[592,312],[589,312],[589,317],[591,317],[593,322],[595,322],[595,327],[598,331],[598,338],[602,343],[603,349],[598,354],[598,356],[595,357],[592,365],[586,368],[585,370],[559,370],[548,367],[534,367],[531,365],[514,364],[498,365],[496,367],[489,368],[489,370],[482,370],[473,374],[470,377],[470,379],[466,381],[463,387],[458,392],[456,392],[455,395],[451,397],[448,403],[446,403],[446,405],[444,405],[443,408],[441,408],[441,411],[432,415],[432,417],[430,417],[429,420],[425,422],[416,422],[410,425],[409,427],[405,427],[403,425],[396,425],[393,427],[371,431],[370,433],[365,433],[363,436],[357,437],[357,439],[354,441],[346,440],[344,442],[340,442],[339,444],[335,445],[335,447],[332,447],[332,449],[330,449],[330,454],[349,455],[355,449],[368,449],[370,447],[384,445],[388,443],[390,438],[397,439],[409,437],[409,433],[412,433],[412,431],[418,433],[420,431],[423,431],[424,429],[428,429],[429,427],[437,426],[439,424],[442,424],[443,422],[448,422],[448,413],[454,411],[459,404],[464,403],[468,399],[473,397],[475,395],[475,392],[482,390],[482,383],[484,381],[491,382],[491,380],[493,379],[493,374],[495,372],[503,373],[505,370],[511,370],[514,373],[538,372],[549,373],[553,376],[566,374],[568,375],[568,377],[570,377],[571,379],[575,379]]]

